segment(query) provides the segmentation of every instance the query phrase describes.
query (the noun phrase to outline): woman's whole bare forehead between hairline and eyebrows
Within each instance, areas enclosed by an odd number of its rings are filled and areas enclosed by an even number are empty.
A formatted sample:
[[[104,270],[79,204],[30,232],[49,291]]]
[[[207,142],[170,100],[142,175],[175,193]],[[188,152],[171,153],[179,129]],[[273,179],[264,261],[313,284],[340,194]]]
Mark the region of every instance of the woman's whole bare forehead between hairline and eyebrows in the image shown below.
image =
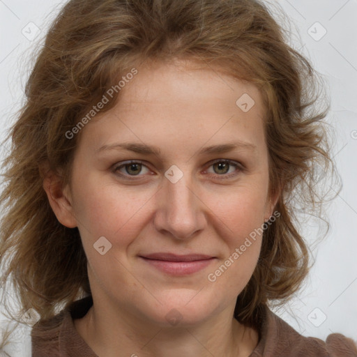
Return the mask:
[[[116,105],[91,121],[86,142],[115,139],[196,144],[249,139],[259,142],[264,107],[256,86],[196,63],[157,63],[137,68]]]

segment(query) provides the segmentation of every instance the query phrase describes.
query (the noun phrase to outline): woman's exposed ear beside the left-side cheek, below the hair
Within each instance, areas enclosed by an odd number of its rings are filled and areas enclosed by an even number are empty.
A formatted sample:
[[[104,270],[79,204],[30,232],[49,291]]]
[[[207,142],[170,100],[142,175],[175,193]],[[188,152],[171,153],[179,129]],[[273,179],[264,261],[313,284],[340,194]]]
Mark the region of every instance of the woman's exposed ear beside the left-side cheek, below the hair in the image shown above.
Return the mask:
[[[70,190],[68,187],[63,188],[63,180],[61,177],[47,170],[47,172],[43,174],[43,188],[57,220],[65,227],[77,227]]]

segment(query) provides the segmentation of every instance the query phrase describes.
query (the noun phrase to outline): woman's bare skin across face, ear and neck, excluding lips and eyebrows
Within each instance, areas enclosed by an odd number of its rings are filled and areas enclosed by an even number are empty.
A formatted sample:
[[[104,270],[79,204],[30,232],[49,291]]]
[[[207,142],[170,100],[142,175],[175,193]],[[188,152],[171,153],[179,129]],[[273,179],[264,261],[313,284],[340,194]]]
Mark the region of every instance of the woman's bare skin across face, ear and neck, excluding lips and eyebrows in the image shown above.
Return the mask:
[[[255,100],[246,113],[236,105],[243,93]],[[254,148],[199,153],[234,142]],[[98,152],[114,143],[155,146],[160,155]],[[127,160],[142,160],[139,174],[119,167]],[[165,176],[172,165],[183,173],[176,183]],[[49,175],[44,188],[59,222],[82,237],[93,307],[74,322],[98,356],[243,357],[255,349],[257,331],[233,312],[261,236],[215,282],[207,278],[268,220],[278,199],[268,192],[264,106],[255,86],[190,61],[140,67],[119,102],[82,129],[70,185]],[[100,236],[112,244],[105,255],[93,248]],[[153,252],[215,259],[173,276],[139,257]],[[172,309],[176,325],[167,321]]]

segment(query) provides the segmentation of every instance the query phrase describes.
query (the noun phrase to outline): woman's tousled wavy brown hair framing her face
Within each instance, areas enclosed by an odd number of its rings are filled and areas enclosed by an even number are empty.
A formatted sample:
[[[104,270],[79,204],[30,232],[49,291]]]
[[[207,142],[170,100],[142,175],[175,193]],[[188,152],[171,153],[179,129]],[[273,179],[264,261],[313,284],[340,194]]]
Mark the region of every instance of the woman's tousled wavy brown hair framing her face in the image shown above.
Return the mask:
[[[32,307],[50,319],[91,294],[79,231],[56,219],[43,189],[43,167],[61,171],[63,184],[70,184],[81,133],[68,139],[66,132],[130,68],[174,59],[255,84],[266,106],[270,190],[280,190],[280,218],[264,231],[236,319],[252,325],[261,307],[297,291],[310,260],[293,198],[299,192],[305,207],[321,203],[314,168],[333,165],[323,124],[327,109],[316,109],[318,77],[288,36],[255,0],[71,0],[63,7],[36,57],[3,162],[2,284],[15,287],[23,312]]]

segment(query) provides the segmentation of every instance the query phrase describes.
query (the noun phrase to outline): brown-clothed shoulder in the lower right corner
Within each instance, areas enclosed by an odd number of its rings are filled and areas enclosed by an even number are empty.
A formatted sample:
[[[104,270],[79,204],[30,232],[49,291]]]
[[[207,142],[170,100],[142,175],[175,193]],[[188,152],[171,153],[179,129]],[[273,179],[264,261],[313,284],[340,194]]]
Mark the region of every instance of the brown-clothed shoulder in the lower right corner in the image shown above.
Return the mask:
[[[356,342],[340,333],[305,337],[266,307],[259,343],[250,357],[357,357]]]

